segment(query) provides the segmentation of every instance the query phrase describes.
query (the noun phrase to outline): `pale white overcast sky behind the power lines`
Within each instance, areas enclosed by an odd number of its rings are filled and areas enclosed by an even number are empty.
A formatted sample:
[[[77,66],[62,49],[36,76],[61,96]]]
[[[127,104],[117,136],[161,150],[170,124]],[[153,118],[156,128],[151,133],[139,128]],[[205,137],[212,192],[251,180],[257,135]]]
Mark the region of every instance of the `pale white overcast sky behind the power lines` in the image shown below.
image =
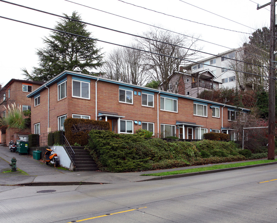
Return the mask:
[[[246,33],[252,33],[255,29],[269,26],[270,24],[270,6],[257,10],[257,3],[263,5],[268,3],[269,0],[259,0],[260,2],[256,0],[124,0],[137,6],[180,17],[185,20],[135,7],[119,0],[71,1],[175,32],[184,33],[188,36],[200,36],[199,38],[202,40],[221,45],[217,46],[198,41],[197,44],[202,47],[202,51],[212,54],[225,52],[229,48],[238,48],[241,46],[243,39],[249,36]],[[105,12],[80,6],[65,0],[11,0],[11,2],[58,15],[62,15],[62,13],[72,15],[73,11],[77,11],[85,22],[133,34],[141,35],[150,29],[148,25],[109,15]],[[49,28],[54,28],[56,22],[59,21],[59,18],[56,16],[13,6],[4,2],[0,2],[0,15]],[[230,20],[234,20],[237,23]],[[195,22],[235,30],[237,32],[214,28]],[[36,49],[45,46],[42,38],[44,36],[48,37],[50,30],[3,18],[0,18],[0,24],[2,30],[0,35],[0,84],[5,85],[12,78],[24,79],[24,76],[21,75],[21,68],[26,68],[31,72],[32,67],[37,66],[38,57],[35,54]],[[126,45],[131,42],[132,38],[128,35],[89,25],[87,29],[93,33],[93,37],[107,42]],[[116,46],[98,42],[98,48],[100,47],[103,48],[102,53],[108,53]],[[203,55],[203,58],[209,56]]]

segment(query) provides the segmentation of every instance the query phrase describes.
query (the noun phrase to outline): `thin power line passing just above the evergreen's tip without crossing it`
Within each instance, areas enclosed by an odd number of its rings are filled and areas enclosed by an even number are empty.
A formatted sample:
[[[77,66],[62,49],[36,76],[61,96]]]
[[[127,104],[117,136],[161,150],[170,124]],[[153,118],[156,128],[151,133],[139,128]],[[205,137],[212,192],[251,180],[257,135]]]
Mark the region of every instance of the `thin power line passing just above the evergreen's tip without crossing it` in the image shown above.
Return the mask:
[[[2,1],[2,0],[0,0],[0,1]],[[103,10],[100,10],[100,9],[89,7],[89,6],[86,6],[86,5],[83,5],[83,4],[79,4],[79,3],[76,3],[76,2],[72,2],[72,1],[69,1],[69,0],[65,0],[65,1],[74,3],[76,5],[84,6],[84,7],[90,8],[90,9],[94,9],[94,10],[97,10],[97,11],[101,11],[101,12],[104,12],[104,13],[107,13],[107,14],[110,14],[110,15],[115,15],[115,16],[118,16],[118,17],[123,18],[123,19],[127,19],[127,20],[131,20],[131,21],[138,22],[138,23],[141,23],[141,24],[145,24],[145,25],[148,25],[148,26],[152,26],[154,28],[159,28],[159,29],[162,29],[162,30],[165,30],[165,31],[169,31],[169,32],[172,32],[172,33],[176,33],[176,34],[182,35],[182,36],[190,37],[190,38],[193,38],[193,39],[196,39],[196,40],[199,40],[199,41],[207,42],[207,43],[210,43],[210,44],[213,44],[213,45],[216,45],[216,46],[221,46],[221,47],[224,47],[224,48],[227,48],[227,49],[230,49],[230,50],[241,52],[240,50],[237,50],[237,49],[234,49],[234,48],[230,48],[230,47],[227,47],[227,46],[222,46],[220,44],[216,44],[216,43],[212,43],[212,42],[209,42],[209,41],[206,41],[206,40],[202,40],[202,39],[199,39],[199,38],[195,38],[195,37],[191,37],[191,36],[188,36],[188,35],[184,35],[182,33],[178,33],[178,32],[175,32],[175,31],[172,31],[172,30],[169,30],[169,29],[165,29],[165,28],[161,28],[161,27],[158,27],[158,26],[155,26],[155,25],[148,24],[148,23],[140,22],[138,20],[133,20],[133,19],[121,16],[121,15],[116,15],[116,14],[113,14],[111,12],[103,11]],[[245,54],[248,54],[248,53],[245,52]],[[262,58],[262,59],[267,59],[267,58],[264,58],[264,57],[261,57],[261,56],[257,56],[257,57]]]

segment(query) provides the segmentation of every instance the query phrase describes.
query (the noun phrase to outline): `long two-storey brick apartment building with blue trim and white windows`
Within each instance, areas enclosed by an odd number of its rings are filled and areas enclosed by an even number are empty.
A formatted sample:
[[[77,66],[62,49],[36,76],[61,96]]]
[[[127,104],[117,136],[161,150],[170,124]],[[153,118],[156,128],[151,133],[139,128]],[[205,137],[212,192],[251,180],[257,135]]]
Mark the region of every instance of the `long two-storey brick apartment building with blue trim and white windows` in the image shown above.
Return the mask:
[[[31,133],[37,134],[63,129],[64,120],[73,117],[106,120],[116,133],[142,128],[155,137],[203,139],[207,132],[230,133],[236,116],[234,106],[70,71],[27,97]]]

